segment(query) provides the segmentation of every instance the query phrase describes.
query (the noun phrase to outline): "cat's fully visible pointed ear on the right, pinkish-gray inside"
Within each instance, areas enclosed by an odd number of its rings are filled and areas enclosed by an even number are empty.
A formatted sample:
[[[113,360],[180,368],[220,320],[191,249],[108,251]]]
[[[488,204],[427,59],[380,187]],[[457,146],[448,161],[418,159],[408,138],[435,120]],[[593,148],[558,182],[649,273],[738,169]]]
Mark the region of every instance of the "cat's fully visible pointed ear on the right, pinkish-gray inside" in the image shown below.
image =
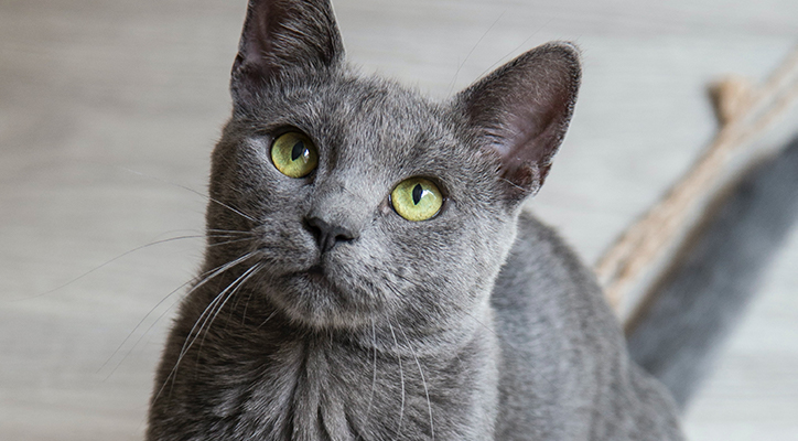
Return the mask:
[[[579,51],[548,43],[505,64],[457,96],[483,147],[500,159],[509,200],[538,192],[571,120]]]

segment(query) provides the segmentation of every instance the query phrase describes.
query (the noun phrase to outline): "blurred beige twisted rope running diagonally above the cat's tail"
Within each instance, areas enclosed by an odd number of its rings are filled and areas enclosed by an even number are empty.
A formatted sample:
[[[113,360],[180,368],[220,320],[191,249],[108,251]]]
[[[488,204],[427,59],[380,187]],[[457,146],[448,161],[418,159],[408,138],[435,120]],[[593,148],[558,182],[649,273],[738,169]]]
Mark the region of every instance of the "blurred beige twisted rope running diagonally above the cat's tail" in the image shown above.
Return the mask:
[[[634,282],[677,240],[692,209],[716,186],[733,153],[762,135],[798,100],[798,47],[759,87],[727,77],[711,88],[721,128],[692,168],[598,259],[594,270],[618,311]]]

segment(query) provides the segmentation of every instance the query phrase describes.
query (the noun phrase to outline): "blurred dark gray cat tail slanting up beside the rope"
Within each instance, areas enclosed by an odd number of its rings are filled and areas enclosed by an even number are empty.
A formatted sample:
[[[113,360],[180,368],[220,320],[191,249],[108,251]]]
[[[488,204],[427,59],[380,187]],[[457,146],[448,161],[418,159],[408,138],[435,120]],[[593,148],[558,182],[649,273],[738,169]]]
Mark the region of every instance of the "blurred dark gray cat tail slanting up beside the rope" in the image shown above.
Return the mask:
[[[680,407],[712,365],[798,218],[798,139],[719,202],[629,333],[633,359]]]

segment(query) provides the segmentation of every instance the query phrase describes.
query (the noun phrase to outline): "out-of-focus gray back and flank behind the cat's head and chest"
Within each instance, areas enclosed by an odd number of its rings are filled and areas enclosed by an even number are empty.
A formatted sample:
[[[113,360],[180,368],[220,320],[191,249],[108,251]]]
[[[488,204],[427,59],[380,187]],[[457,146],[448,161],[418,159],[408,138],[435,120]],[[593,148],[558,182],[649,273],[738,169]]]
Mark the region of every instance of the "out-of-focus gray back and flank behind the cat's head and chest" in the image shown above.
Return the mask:
[[[493,292],[503,363],[497,440],[677,440],[670,398],[628,361],[592,272],[521,216]]]

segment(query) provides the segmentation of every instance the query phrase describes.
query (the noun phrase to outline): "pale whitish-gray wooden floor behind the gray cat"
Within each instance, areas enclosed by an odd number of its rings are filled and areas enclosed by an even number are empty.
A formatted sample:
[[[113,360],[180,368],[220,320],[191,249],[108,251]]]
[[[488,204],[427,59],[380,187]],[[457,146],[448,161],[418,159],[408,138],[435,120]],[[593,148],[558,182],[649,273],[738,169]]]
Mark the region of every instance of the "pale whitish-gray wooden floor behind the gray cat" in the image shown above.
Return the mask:
[[[141,439],[202,252],[245,3],[0,2],[0,439]],[[708,82],[762,79],[798,40],[795,0],[335,8],[365,73],[438,97],[548,40],[582,47],[572,130],[532,208],[587,262],[710,140]],[[694,440],[798,439],[798,232],[766,279],[688,411]]]

